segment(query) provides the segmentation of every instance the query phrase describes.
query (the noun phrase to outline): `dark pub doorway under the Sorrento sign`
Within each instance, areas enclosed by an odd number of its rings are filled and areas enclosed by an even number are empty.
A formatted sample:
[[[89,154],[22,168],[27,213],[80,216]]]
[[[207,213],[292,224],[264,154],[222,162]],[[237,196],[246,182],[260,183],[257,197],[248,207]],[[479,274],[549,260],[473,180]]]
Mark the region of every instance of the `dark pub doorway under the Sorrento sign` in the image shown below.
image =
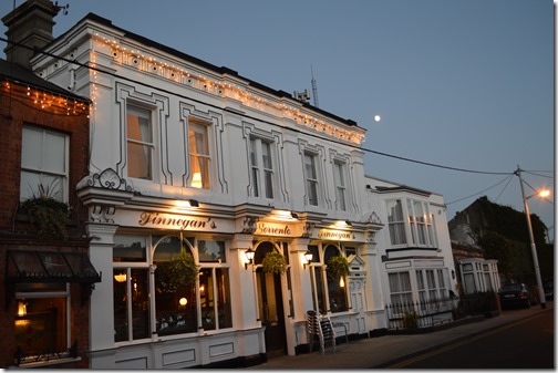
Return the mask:
[[[261,242],[256,249],[255,263],[260,265],[265,255],[278,251],[272,242]],[[261,325],[266,328],[264,338],[268,358],[287,354],[287,335],[282,299],[281,274],[266,273],[256,269],[258,308]]]

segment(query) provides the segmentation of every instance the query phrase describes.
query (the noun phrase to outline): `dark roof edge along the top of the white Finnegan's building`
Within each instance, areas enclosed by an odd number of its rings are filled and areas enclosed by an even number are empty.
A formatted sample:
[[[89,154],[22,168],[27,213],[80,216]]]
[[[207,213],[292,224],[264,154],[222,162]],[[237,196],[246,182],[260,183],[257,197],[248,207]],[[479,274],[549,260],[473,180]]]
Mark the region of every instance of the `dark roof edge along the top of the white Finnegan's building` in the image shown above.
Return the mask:
[[[226,68],[226,66],[214,65],[214,64],[208,63],[206,61],[203,61],[203,60],[200,60],[198,58],[195,58],[193,55],[189,55],[189,54],[186,54],[184,52],[177,51],[176,49],[169,48],[167,45],[161,44],[161,43],[155,42],[155,41],[153,41],[151,39],[147,39],[145,37],[142,37],[142,35],[138,35],[136,33],[133,33],[133,32],[130,32],[127,30],[124,30],[122,28],[118,28],[118,27],[114,25],[112,23],[112,21],[110,21],[110,20],[107,20],[107,19],[105,19],[103,17],[100,17],[100,15],[97,15],[95,13],[87,13],[76,24],[82,23],[82,22],[87,21],[87,20],[96,22],[96,23],[100,23],[100,24],[102,24],[102,25],[104,25],[106,28],[111,28],[111,29],[113,29],[113,30],[122,33],[124,35],[124,38],[131,39],[131,40],[136,41],[138,43],[142,43],[142,44],[144,44],[146,46],[149,46],[152,49],[157,49],[157,50],[163,51],[165,53],[172,54],[172,55],[174,55],[174,56],[176,56],[178,59],[182,59],[182,60],[184,60],[186,62],[199,65],[199,66],[202,66],[204,69],[207,69],[209,71],[213,71],[213,72],[215,72],[217,74],[221,74],[221,75],[226,74],[226,75],[237,76],[237,77],[246,81],[248,83],[248,85],[250,85],[250,86],[252,86],[255,89],[258,89],[260,91],[264,91],[266,93],[272,94],[272,95],[278,96],[278,97],[290,99],[292,101],[296,101],[299,104],[301,103],[300,101],[294,100],[292,97],[292,95],[290,93],[288,93],[288,92],[273,90],[273,89],[271,89],[271,87],[269,87],[267,85],[260,84],[260,83],[255,82],[255,81],[252,81],[250,79],[247,79],[245,76],[239,75],[238,72],[236,72],[235,70],[231,70],[231,69]],[[63,39],[64,35],[68,34],[69,32],[70,32],[70,30],[66,31],[64,34],[60,35],[59,38],[55,38],[49,45],[56,43],[60,39]],[[49,49],[49,45],[45,46],[46,50]],[[321,114],[323,116],[330,117],[330,118],[332,118],[334,121],[341,122],[341,123],[343,123],[343,124],[345,124],[348,126],[358,126],[356,122],[354,122],[352,120],[342,118],[342,117],[337,116],[337,115],[334,115],[332,113],[329,113],[329,112],[323,111],[323,110],[321,110],[319,107],[316,107],[316,106],[313,106],[313,105],[311,105],[309,103],[301,103],[301,104],[302,104],[303,107],[307,107],[307,108],[309,108],[311,111],[314,111],[314,112],[317,112],[317,113],[319,113],[319,114]]]

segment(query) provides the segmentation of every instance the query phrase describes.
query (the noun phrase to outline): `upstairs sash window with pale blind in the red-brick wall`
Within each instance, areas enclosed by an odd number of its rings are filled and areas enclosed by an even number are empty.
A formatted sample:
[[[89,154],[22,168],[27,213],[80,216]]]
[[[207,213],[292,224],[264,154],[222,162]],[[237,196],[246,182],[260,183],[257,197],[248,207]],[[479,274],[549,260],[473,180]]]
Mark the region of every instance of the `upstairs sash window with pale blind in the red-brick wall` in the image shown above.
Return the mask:
[[[69,144],[62,133],[23,126],[20,200],[39,196],[68,200]]]

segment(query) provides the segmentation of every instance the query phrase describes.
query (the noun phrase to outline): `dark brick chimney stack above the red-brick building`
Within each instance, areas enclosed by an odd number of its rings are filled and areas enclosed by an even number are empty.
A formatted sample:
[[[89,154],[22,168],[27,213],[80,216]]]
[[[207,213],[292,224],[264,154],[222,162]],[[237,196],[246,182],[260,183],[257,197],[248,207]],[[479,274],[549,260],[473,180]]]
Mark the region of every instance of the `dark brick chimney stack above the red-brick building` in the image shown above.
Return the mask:
[[[34,54],[33,49],[42,49],[54,39],[52,27],[59,11],[60,7],[49,0],[27,0],[4,15],[2,22],[8,28],[8,44],[4,49],[7,60],[31,69],[29,60]]]

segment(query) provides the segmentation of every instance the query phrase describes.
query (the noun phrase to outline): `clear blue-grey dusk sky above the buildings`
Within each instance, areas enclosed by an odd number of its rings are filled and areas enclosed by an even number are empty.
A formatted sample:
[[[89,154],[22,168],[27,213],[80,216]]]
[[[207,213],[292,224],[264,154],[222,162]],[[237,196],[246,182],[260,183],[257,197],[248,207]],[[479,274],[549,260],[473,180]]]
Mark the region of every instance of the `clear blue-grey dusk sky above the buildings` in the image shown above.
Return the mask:
[[[555,235],[551,0],[59,3],[54,37],[93,12],[273,90],[311,92],[313,71],[319,107],[368,131],[366,174],[443,195],[448,220],[484,195],[524,211],[519,165]]]

